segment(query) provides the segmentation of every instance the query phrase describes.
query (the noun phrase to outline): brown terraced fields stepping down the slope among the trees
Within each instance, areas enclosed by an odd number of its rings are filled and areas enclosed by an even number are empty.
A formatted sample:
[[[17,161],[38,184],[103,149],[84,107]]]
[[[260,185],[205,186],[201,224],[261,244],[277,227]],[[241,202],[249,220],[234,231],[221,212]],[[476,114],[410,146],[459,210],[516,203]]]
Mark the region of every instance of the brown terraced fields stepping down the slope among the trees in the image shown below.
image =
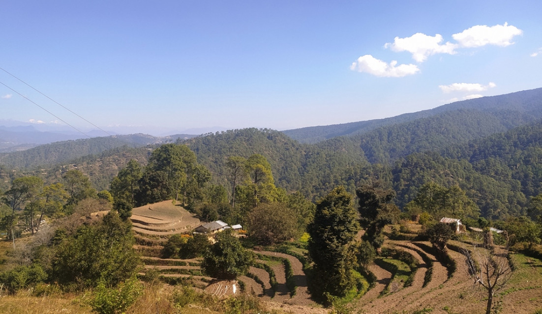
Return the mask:
[[[270,309],[307,314],[329,311],[311,299],[302,264],[306,253],[303,249],[291,247],[285,251],[287,253],[254,251],[256,263],[246,276],[238,278],[238,284],[204,276],[200,259],[161,258],[162,244],[173,233],[163,229],[172,228],[178,232],[180,228],[193,228],[191,226],[199,224],[190,214],[172,218],[172,209],[181,211],[178,206],[171,207],[171,202],[168,203],[164,206],[170,207],[169,212],[156,206],[157,216],[149,216],[155,208],[153,205],[151,209],[147,206],[146,210],[134,211],[134,225],[147,228],[135,227],[139,228],[136,230],[136,248],[145,263],[141,276],[154,273],[167,283],[190,285],[217,296],[234,293],[235,284],[236,293],[242,290],[257,296]],[[182,223],[184,227],[181,227]],[[429,242],[386,239],[384,251],[391,252],[390,256],[379,257],[377,263],[369,266],[369,271],[376,277],[373,288],[350,305],[362,313],[414,313],[423,309],[431,313],[484,312],[486,296],[473,286],[466,257],[459,252],[461,247],[472,249],[468,244],[451,241],[448,258],[444,258],[435,255]],[[495,302],[502,302],[504,313],[532,314],[542,308],[542,262],[520,254],[515,254],[514,259],[518,259],[515,262],[518,270],[510,286],[495,297]]]

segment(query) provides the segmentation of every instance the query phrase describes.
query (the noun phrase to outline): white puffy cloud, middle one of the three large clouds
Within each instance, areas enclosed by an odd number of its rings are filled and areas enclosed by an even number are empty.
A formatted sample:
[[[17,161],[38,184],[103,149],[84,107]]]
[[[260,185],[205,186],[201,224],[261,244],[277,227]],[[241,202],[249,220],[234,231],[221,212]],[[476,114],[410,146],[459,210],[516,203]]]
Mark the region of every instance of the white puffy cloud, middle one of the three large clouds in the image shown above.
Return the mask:
[[[416,33],[410,37],[395,37],[393,43],[386,43],[384,48],[391,48],[396,52],[408,51],[417,62],[424,62],[427,57],[435,54],[455,54],[456,45],[450,42],[441,44],[442,35],[429,36]]]

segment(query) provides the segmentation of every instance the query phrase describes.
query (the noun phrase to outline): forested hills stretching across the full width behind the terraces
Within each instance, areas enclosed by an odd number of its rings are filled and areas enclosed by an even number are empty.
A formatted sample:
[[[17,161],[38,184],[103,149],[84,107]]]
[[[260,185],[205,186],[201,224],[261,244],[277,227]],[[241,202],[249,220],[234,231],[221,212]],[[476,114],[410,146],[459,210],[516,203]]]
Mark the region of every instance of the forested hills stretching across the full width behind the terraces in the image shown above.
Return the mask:
[[[177,144],[188,145],[211,172],[211,182],[226,190],[228,158],[259,154],[269,162],[276,186],[300,191],[312,201],[338,185],[354,193],[360,184],[380,181],[396,191],[396,204],[404,208],[424,184],[434,182],[459,186],[483,216],[525,215],[530,198],[542,192],[541,93],[537,89],[458,102],[430,116],[420,113],[425,117],[317,144],[301,144],[269,129],[209,133],[178,139]],[[514,125],[521,126],[511,129]],[[76,168],[98,190],[108,189],[130,159],[145,165],[158,147],[141,146],[160,141],[164,139],[144,135],[107,137],[0,155],[2,186],[23,173],[55,181]]]

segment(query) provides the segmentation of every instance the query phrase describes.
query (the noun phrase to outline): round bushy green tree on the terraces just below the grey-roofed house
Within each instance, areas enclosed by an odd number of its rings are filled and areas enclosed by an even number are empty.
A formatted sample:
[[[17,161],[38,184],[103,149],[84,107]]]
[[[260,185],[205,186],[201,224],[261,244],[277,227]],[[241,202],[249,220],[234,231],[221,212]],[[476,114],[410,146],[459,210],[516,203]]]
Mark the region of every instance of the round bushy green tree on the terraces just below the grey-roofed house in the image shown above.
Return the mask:
[[[202,270],[218,279],[235,279],[244,275],[252,264],[253,256],[229,231],[222,231],[217,242],[205,252],[201,263]]]

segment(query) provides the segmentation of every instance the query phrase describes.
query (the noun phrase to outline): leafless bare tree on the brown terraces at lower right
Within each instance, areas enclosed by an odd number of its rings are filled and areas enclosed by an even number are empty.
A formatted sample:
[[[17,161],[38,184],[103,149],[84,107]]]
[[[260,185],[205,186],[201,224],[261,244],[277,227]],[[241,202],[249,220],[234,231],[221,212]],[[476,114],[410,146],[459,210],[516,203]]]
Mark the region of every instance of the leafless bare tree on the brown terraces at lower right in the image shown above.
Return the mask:
[[[508,263],[508,237],[506,245],[494,245],[491,230],[483,231],[483,244],[474,244],[473,249],[463,248],[463,254],[474,285],[487,292],[486,314],[491,313],[493,296],[512,277],[513,269]]]

